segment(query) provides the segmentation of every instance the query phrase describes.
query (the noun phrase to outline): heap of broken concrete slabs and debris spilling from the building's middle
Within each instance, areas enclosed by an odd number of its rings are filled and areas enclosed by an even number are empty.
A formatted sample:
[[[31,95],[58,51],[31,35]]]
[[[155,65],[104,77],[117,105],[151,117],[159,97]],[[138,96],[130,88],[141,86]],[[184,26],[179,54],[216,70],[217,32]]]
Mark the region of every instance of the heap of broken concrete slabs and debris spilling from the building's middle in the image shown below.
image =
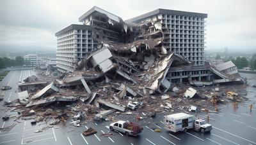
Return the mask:
[[[70,125],[79,127],[92,120],[115,121],[132,115],[140,121],[154,118],[156,113],[188,111],[192,104],[213,108],[219,102],[227,102],[221,86],[218,91],[212,86],[192,88],[171,84],[166,78],[170,67],[193,64],[166,51],[159,20],[133,27],[140,30],[134,41],[114,43],[98,39],[99,48],[78,62],[76,71],[54,79],[51,76],[52,82],[49,77],[42,77],[50,72],[40,72],[38,76],[44,81],[30,76],[19,85],[20,90],[28,92],[20,93],[18,100],[5,105],[20,112],[17,119],[45,121],[49,125],[65,125],[72,120]],[[134,102],[136,109],[131,109],[132,104],[127,106],[129,102]],[[90,128],[88,132],[93,134],[95,130]]]

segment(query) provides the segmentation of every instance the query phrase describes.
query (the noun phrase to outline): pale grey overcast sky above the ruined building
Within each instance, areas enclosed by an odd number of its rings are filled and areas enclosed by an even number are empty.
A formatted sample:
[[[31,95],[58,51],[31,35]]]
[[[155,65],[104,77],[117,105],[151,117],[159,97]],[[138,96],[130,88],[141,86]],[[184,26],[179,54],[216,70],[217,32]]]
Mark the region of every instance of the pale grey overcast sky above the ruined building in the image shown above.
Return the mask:
[[[0,50],[56,50],[55,32],[98,6],[123,20],[157,8],[207,13],[206,50],[256,50],[255,0],[1,0]]]

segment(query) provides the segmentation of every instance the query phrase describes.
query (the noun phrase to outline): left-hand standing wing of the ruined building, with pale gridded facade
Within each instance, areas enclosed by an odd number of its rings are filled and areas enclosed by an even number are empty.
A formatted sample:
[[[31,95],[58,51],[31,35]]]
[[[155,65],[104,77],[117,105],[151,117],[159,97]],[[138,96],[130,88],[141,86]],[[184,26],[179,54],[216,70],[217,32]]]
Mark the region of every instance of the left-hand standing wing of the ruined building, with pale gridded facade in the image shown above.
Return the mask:
[[[57,36],[57,67],[58,72],[73,72],[76,64],[83,57],[87,57],[97,43],[92,39],[89,25],[72,24],[59,32]]]

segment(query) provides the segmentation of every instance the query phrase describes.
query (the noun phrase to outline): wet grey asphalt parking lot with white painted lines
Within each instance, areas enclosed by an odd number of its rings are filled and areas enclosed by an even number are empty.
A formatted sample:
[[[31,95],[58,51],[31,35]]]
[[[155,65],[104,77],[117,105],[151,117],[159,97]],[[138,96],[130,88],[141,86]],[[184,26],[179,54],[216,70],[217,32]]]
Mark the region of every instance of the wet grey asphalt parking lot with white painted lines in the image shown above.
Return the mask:
[[[10,71],[6,78],[0,83],[0,86],[10,85],[12,90],[1,91],[4,100],[17,99],[18,82],[28,76],[35,74],[32,70]],[[143,124],[143,132],[137,137],[127,137],[124,134],[113,132],[113,136],[104,137],[101,134],[109,132],[106,127],[110,124],[109,121],[94,121],[74,127],[68,125],[63,127],[61,123],[43,132],[35,133],[35,130],[46,127],[44,122],[37,123],[32,126],[31,120],[0,121],[0,127],[8,127],[12,123],[17,123],[10,132],[0,133],[1,144],[256,144],[256,105],[252,112],[249,110],[249,104],[256,102],[256,89],[252,87],[256,81],[255,74],[243,74],[248,78],[249,86],[246,88],[248,94],[246,97],[250,100],[239,104],[238,109],[234,110],[232,104],[223,104],[220,113],[210,114],[210,123],[213,126],[211,133],[202,134],[189,130],[187,133],[168,132],[163,128],[163,116],[157,114],[154,120],[148,119],[141,122]],[[0,102],[0,116],[5,114],[17,115],[15,112],[10,112],[8,108],[3,107],[3,102]],[[205,118],[206,114],[200,113],[198,116]],[[121,117],[121,116],[120,116]],[[116,119],[118,116],[116,117]],[[122,118],[121,118],[122,119]],[[132,118],[133,120],[134,118]],[[86,128],[93,127],[97,130],[97,134],[84,137],[81,133]],[[162,132],[154,132],[152,128],[161,128]]]

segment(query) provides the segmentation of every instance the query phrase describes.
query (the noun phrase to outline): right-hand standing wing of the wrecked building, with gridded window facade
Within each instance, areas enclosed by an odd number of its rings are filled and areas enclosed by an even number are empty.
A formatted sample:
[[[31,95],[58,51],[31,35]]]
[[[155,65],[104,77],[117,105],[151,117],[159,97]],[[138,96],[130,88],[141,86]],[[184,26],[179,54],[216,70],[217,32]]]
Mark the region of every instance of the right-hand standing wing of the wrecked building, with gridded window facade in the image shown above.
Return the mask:
[[[205,18],[204,13],[157,9],[126,22],[138,24],[160,19],[166,49],[182,55],[194,66],[204,66]]]

